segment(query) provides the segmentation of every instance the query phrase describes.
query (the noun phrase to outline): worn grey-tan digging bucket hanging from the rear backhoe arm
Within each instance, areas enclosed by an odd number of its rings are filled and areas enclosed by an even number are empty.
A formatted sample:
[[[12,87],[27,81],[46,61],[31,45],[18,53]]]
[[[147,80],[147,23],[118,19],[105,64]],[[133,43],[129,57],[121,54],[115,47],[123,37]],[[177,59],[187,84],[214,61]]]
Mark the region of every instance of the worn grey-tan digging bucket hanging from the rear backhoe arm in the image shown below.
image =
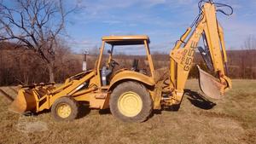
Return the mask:
[[[200,66],[197,66],[199,72],[199,85],[201,91],[207,96],[213,99],[221,99],[224,97],[224,92],[222,90],[223,84],[218,82],[217,78],[212,77],[207,72],[201,70]]]

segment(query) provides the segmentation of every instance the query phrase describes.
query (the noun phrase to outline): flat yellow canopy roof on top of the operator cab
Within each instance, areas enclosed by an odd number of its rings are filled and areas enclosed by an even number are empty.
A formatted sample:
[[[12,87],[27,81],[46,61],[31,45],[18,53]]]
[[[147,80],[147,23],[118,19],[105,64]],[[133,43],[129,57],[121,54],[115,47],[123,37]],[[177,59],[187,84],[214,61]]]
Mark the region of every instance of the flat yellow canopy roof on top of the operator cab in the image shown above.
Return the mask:
[[[102,37],[102,41],[105,41],[111,45],[137,45],[144,44],[144,40],[150,43],[149,37],[146,35],[137,36],[107,36]]]

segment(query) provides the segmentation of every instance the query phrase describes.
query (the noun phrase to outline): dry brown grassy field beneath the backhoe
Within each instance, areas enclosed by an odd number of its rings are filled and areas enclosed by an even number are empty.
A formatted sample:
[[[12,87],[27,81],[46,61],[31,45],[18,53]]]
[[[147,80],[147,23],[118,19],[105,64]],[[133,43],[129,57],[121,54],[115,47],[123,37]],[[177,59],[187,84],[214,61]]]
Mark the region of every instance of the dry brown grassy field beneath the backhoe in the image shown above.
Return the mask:
[[[187,89],[178,112],[154,112],[142,124],[123,123],[98,110],[84,111],[73,122],[55,122],[49,112],[23,117],[9,112],[9,102],[0,96],[0,144],[256,143],[256,81],[234,80],[218,101],[201,98],[195,80]]]

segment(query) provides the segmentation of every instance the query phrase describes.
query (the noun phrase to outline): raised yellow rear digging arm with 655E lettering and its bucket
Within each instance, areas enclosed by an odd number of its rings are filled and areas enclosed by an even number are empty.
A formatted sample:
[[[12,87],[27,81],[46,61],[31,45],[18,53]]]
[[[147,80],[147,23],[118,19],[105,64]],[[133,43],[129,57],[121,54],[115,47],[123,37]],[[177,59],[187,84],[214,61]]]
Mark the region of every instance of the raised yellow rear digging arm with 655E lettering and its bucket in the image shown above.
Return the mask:
[[[198,15],[192,26],[187,29],[170,52],[170,79],[172,82],[170,84],[170,89],[172,89],[170,105],[179,104],[183,98],[183,89],[195,57],[195,50],[202,36],[206,49],[209,51],[208,57],[212,62],[213,71],[218,76],[214,78],[207,72],[202,72],[199,67],[202,91],[212,98],[220,98],[224,95],[225,90],[231,88],[230,78],[226,76],[224,71],[227,56],[223,28],[218,23],[214,3],[209,1],[204,3],[201,7],[201,14]],[[209,84],[210,82],[212,83]],[[211,91],[212,89],[215,91]]]

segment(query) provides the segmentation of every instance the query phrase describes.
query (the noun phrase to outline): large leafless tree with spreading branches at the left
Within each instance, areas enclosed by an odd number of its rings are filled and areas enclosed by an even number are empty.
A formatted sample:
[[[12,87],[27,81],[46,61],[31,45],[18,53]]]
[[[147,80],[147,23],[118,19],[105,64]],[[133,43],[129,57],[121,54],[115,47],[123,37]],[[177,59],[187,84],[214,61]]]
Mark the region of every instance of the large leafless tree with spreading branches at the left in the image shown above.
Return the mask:
[[[67,14],[62,0],[13,0],[13,8],[0,3],[0,41],[12,41],[34,52],[44,61],[49,81],[54,81],[57,37],[65,27]]]

